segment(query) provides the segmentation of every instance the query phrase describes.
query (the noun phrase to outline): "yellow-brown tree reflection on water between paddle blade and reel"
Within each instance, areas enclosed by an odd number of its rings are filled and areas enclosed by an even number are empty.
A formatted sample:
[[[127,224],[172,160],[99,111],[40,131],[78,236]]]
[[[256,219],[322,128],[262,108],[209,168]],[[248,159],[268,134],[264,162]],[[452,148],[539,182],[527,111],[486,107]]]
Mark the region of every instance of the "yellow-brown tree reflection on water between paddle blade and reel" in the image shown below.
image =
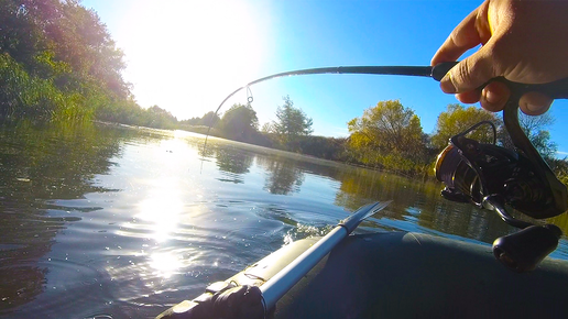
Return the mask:
[[[412,219],[409,231],[434,231],[487,243],[514,231],[492,211],[443,199],[439,183],[413,180],[363,168],[352,168],[337,178],[341,180],[341,187],[336,205],[354,210],[373,200],[393,199],[387,209],[375,217],[402,221]],[[415,226],[422,229],[413,229]]]

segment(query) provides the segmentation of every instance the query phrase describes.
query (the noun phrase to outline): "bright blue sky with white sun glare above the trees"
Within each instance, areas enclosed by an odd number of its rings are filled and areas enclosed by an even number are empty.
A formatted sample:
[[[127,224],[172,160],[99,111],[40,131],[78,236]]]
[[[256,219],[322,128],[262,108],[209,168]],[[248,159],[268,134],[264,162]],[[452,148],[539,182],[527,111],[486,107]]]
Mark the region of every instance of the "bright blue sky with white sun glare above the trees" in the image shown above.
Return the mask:
[[[429,65],[451,30],[481,1],[84,0],[125,54],[124,79],[141,107],[184,120],[215,111],[237,88],[272,74],[315,67]],[[470,52],[471,53],[471,52]],[[470,53],[467,53],[466,56]],[[347,136],[347,122],[379,101],[400,100],[425,133],[456,103],[430,78],[309,75],[251,86],[259,122],[275,119],[290,96],[314,134]],[[245,90],[220,112],[247,103]],[[549,128],[568,155],[568,102],[556,101]]]

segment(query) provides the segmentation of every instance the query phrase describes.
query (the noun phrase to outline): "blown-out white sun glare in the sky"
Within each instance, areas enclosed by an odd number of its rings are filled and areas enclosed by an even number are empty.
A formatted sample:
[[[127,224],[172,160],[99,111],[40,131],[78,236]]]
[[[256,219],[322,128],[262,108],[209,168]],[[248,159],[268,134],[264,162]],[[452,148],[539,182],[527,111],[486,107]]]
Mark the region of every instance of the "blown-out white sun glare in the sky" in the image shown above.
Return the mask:
[[[264,56],[253,9],[236,0],[133,2],[116,36],[136,101],[178,119],[214,110]]]

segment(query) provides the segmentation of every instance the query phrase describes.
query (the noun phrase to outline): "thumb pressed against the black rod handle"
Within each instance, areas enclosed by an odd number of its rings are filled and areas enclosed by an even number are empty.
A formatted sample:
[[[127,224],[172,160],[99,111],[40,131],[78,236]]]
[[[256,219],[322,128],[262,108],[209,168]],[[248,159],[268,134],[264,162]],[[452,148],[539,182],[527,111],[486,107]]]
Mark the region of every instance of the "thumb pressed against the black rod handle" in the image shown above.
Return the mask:
[[[490,50],[483,46],[454,66],[441,79],[440,88],[446,94],[472,91],[496,76]]]

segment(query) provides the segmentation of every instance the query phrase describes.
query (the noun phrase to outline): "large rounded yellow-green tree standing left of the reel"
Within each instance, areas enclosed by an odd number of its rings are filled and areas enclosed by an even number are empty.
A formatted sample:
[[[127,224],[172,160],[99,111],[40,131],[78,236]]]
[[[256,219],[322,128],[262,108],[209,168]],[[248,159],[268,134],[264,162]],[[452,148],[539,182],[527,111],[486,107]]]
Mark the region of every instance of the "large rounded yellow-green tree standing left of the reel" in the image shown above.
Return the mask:
[[[349,147],[357,161],[395,170],[425,162],[419,118],[398,100],[381,101],[348,122]]]

